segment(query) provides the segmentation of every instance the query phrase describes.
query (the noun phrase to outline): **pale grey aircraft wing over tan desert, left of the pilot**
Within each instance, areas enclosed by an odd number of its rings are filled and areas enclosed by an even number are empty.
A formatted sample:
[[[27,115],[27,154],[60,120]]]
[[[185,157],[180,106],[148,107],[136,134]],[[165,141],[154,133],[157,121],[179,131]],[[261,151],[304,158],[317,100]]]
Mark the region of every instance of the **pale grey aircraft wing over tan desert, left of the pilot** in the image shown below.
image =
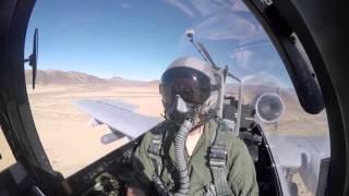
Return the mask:
[[[81,111],[92,117],[93,125],[106,124],[112,132],[101,138],[104,144],[127,136],[134,139],[160,122],[160,119],[146,117],[134,112],[137,107],[116,100],[88,100],[73,101]]]

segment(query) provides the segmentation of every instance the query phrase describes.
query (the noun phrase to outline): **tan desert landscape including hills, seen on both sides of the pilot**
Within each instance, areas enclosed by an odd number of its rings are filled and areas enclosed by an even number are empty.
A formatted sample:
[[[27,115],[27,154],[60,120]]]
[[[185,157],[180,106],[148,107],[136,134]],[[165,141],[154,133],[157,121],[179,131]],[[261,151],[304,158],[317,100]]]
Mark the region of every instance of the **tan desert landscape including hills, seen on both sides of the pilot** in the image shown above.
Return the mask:
[[[29,103],[39,137],[51,166],[64,176],[73,174],[125,144],[122,139],[109,145],[101,144],[100,137],[109,132],[106,125],[96,127],[88,125],[91,118],[73,107],[72,101],[121,100],[139,106],[137,112],[145,115],[160,118],[163,113],[157,81],[136,82],[121,77],[105,79],[79,72],[49,70],[38,71],[37,85],[33,90],[29,85],[31,78],[31,73],[26,72]],[[245,96],[251,96],[252,91],[245,89]],[[281,89],[280,95],[287,109],[280,119],[278,130],[269,130],[272,134],[311,136],[327,134],[325,112],[309,115],[300,108],[294,91]],[[2,149],[0,145],[0,150]],[[297,183],[300,184],[299,192],[308,195],[301,181],[297,180]]]

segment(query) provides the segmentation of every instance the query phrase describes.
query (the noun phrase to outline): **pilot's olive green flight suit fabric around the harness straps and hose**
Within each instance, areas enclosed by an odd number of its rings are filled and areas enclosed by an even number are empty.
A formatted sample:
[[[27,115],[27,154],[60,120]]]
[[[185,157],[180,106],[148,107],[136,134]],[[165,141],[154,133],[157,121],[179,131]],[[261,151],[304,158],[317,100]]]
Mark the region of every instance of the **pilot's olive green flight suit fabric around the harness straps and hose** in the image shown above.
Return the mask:
[[[188,162],[190,173],[190,193],[189,195],[204,195],[208,185],[213,185],[213,175],[208,164],[208,150],[217,131],[217,122],[210,120],[205,124],[192,156]],[[172,192],[179,187],[178,173],[174,161],[174,137],[179,130],[177,125],[170,122],[163,122],[152,131],[147,132],[133,159],[133,174],[129,182],[130,186],[144,191],[147,195],[154,195],[152,175],[155,173],[154,162],[148,155],[148,146],[154,134],[163,133],[163,148],[160,157],[163,160],[163,172],[160,179],[163,184]],[[258,195],[258,186],[252,158],[244,143],[236,137],[233,133],[227,133],[227,182],[230,195]],[[186,157],[189,158],[189,157]]]

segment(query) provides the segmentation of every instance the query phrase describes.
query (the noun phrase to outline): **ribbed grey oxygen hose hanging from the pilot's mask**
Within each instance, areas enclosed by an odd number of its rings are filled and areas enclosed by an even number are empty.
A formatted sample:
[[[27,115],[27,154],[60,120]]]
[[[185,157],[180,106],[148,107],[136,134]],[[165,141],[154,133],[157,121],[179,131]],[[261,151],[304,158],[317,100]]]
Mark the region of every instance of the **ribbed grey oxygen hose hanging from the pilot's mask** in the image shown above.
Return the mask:
[[[174,138],[174,159],[177,162],[177,169],[179,172],[180,187],[174,196],[186,196],[189,194],[190,182],[189,182],[189,171],[185,160],[185,140],[190,130],[193,127],[191,120],[185,120],[180,126],[179,132]]]

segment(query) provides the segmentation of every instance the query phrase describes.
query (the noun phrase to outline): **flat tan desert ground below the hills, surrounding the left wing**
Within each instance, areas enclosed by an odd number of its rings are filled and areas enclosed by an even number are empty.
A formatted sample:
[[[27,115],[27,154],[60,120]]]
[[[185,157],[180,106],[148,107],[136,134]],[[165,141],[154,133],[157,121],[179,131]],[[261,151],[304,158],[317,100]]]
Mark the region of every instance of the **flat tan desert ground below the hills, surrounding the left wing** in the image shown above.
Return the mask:
[[[35,124],[46,154],[53,169],[60,171],[64,176],[73,174],[125,143],[125,140],[118,140],[103,145],[100,137],[108,133],[106,126],[89,126],[89,117],[74,108],[72,101],[77,99],[117,99],[139,106],[139,112],[142,114],[160,117],[163,113],[161,100],[156,85],[131,87],[48,85],[37,86],[35,90],[28,87],[28,96]],[[315,117],[314,123],[306,123],[314,117],[308,118],[294,112],[286,113],[286,115],[289,117],[282,117],[277,133],[287,135],[323,135],[326,133],[326,122],[316,120],[320,119],[318,117]],[[3,139],[0,134],[0,140]],[[4,144],[0,143],[1,151],[5,148]],[[10,158],[8,161],[1,161],[0,168],[14,161],[11,156],[2,156]],[[296,176],[296,181],[300,184],[299,193],[310,195],[301,185],[299,176]]]

